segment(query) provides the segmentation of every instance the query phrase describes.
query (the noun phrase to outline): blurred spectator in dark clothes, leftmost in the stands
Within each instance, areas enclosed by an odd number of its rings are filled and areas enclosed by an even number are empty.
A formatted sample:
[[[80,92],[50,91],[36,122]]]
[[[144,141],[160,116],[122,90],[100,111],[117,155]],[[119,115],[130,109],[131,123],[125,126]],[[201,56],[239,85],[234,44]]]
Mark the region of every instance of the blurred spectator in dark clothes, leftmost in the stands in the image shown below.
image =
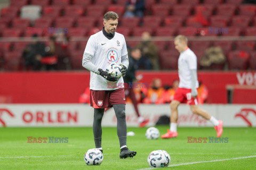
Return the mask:
[[[42,58],[45,56],[45,44],[38,40],[37,35],[34,35],[33,42],[26,46],[22,56],[26,68],[33,66],[33,70],[40,70]]]

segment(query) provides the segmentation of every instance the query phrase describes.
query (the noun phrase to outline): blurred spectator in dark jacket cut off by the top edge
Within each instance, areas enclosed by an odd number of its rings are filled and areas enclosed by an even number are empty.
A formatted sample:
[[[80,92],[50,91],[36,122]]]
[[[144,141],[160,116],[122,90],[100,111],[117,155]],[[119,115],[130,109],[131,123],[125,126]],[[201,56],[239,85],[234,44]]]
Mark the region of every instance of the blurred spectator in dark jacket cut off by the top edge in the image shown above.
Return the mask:
[[[134,16],[143,17],[145,10],[145,1],[144,0],[128,0],[125,5],[126,11],[124,17],[131,18]]]

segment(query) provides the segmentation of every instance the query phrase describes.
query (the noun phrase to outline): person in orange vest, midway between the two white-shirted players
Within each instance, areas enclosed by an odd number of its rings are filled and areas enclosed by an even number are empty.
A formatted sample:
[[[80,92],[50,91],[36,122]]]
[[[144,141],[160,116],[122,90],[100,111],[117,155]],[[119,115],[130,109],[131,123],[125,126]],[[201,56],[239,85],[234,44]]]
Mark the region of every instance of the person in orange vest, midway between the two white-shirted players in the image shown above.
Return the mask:
[[[143,100],[145,104],[161,103],[161,96],[163,93],[161,79],[155,78],[151,83],[151,87],[147,91],[146,98]]]

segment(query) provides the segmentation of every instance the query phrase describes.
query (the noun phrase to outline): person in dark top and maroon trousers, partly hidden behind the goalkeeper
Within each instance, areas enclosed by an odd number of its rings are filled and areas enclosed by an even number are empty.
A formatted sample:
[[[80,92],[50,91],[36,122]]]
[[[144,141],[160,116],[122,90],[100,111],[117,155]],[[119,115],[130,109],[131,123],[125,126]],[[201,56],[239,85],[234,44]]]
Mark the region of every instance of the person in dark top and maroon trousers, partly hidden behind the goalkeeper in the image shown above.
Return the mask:
[[[145,120],[144,117],[140,116],[138,109],[138,102],[135,97],[134,89],[129,86],[129,84],[133,82],[140,81],[140,77],[136,77],[135,71],[138,69],[137,61],[141,58],[141,52],[139,48],[134,48],[131,50],[131,56],[129,56],[129,67],[127,69],[126,75],[124,77],[124,83],[127,84],[125,86],[125,98],[129,97],[132,100],[132,104],[134,106],[135,112],[138,116],[139,127],[142,128],[147,125],[149,120]]]

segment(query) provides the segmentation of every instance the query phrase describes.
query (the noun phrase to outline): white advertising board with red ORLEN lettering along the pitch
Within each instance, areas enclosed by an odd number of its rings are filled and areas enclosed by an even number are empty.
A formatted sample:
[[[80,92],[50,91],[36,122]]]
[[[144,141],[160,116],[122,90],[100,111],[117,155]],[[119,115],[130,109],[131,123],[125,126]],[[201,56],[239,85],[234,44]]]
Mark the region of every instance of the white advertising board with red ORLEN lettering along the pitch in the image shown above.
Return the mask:
[[[256,126],[256,105],[205,104],[201,106],[223,126]],[[190,112],[188,105],[180,105],[179,126],[212,126],[209,121]],[[155,125],[159,116],[170,115],[170,105],[139,105],[141,115]],[[138,118],[131,104],[126,105],[127,126],[138,126]],[[0,127],[33,126],[92,126],[93,108],[87,104],[7,104],[0,105]],[[114,109],[105,112],[102,126],[116,126]]]

